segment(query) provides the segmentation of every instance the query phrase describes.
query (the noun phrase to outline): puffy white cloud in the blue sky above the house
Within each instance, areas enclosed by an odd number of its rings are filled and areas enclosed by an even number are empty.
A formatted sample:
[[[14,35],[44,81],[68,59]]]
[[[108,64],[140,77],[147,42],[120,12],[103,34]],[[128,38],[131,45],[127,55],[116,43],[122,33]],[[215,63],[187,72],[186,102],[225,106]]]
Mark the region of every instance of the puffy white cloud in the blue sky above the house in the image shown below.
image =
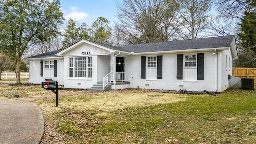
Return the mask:
[[[82,20],[89,16],[89,14],[86,14],[85,12],[78,12],[78,8],[74,6],[69,7],[71,12],[67,12],[65,10],[62,10],[64,12],[66,20],[69,18],[72,18],[74,20]],[[65,14],[66,13],[66,14]]]

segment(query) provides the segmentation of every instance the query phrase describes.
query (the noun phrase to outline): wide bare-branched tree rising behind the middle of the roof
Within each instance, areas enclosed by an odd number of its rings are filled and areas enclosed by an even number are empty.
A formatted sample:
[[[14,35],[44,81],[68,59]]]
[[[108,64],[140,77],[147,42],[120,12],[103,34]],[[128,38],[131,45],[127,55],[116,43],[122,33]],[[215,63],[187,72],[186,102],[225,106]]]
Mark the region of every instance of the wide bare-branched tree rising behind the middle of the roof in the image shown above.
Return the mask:
[[[175,0],[122,0],[117,4],[122,33],[130,44],[167,41],[175,28]]]

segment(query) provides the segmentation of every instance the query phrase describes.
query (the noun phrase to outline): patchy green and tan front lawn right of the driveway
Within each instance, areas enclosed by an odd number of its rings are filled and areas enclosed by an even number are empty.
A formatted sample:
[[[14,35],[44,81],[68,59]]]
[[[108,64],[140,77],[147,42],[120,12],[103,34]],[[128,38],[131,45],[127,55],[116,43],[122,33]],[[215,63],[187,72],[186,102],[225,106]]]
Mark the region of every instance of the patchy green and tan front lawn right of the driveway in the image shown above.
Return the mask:
[[[164,93],[140,93],[157,100]],[[68,144],[232,144],[256,143],[256,92],[228,89],[217,96],[170,94],[177,102],[148,103],[111,109],[83,108],[83,104],[103,96],[122,96],[122,92],[92,93],[64,97],[59,107],[54,100],[39,101],[46,128],[43,143]],[[185,99],[184,99],[185,98]],[[81,106],[71,105],[78,102]],[[70,102],[70,106],[64,105]],[[63,103],[63,104],[62,104]],[[131,101],[131,103],[136,103]],[[51,105],[51,106],[49,106]],[[63,105],[63,106],[62,106]],[[110,109],[110,110],[108,110]],[[54,133],[58,140],[54,142]],[[50,141],[49,141],[50,140]]]

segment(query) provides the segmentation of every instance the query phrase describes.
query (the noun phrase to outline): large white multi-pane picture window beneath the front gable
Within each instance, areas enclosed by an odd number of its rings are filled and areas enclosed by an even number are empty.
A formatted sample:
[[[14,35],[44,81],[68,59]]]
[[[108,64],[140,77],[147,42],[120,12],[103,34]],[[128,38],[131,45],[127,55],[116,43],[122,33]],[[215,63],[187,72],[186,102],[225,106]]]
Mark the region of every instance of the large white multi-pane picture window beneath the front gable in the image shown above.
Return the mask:
[[[89,63],[89,57],[90,57],[91,63]],[[85,59],[83,60],[83,58]],[[83,61],[85,61],[85,63],[80,63]],[[90,76],[88,73],[89,69],[91,69]],[[71,73],[71,70],[73,73]],[[93,76],[92,75],[92,56],[68,58],[68,77],[69,78],[92,79],[92,76]]]

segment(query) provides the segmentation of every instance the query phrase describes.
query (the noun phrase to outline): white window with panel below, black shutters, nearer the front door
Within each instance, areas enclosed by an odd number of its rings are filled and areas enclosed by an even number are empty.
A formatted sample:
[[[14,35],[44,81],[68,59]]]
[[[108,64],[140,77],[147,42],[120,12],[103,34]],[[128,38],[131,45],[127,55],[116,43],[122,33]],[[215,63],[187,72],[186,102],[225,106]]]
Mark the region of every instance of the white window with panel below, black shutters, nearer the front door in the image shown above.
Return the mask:
[[[146,80],[156,80],[156,76],[156,56],[148,56],[146,58]]]

